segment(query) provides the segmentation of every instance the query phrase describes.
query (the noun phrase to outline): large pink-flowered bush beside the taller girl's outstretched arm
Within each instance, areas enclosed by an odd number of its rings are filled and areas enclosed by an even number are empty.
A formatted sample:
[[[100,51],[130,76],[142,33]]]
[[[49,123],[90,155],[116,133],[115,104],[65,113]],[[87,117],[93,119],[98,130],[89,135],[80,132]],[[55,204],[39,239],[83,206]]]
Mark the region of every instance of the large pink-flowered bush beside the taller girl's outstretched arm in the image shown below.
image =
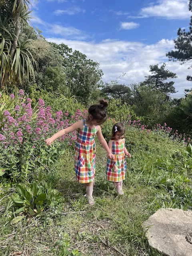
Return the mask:
[[[14,182],[30,180],[33,172],[47,169],[58,160],[66,147],[76,140],[76,132],[62,136],[50,147],[46,146],[44,140],[78,121],[83,114],[77,110],[74,116],[70,116],[68,111],[63,114],[60,110],[53,115],[51,107],[46,107],[42,99],[32,109],[31,99],[25,97],[23,90],[18,95],[10,94],[8,98],[7,101],[7,97],[0,94],[0,107],[3,106],[0,176]]]

